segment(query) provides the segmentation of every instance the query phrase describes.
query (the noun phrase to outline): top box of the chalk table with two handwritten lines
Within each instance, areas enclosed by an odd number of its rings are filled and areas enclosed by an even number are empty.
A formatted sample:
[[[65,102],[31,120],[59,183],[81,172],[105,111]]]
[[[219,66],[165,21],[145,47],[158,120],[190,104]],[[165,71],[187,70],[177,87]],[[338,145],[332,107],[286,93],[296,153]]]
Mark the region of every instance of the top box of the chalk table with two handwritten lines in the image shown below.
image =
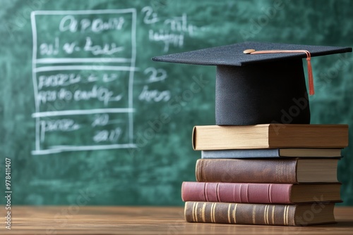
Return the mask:
[[[134,8],[33,11],[31,18],[35,63],[121,63],[133,59]]]

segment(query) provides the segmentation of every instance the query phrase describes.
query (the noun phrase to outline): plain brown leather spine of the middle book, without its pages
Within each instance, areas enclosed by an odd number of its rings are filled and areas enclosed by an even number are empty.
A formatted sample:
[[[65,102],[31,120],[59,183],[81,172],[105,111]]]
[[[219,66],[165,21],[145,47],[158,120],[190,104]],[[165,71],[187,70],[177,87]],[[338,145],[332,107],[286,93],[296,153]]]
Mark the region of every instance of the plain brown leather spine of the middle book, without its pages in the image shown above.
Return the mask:
[[[198,159],[198,182],[297,184],[297,158]]]

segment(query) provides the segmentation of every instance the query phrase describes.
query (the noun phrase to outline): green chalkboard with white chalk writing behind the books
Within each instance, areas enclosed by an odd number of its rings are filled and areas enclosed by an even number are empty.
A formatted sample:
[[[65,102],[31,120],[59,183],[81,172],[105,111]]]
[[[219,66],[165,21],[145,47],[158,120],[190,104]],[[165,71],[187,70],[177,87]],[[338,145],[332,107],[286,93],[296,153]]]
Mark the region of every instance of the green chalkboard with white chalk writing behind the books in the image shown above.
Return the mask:
[[[192,127],[215,123],[215,68],[152,56],[353,42],[352,1],[0,2],[0,179],[8,158],[13,205],[182,205],[201,157]],[[353,125],[352,56],[312,64],[311,122]],[[345,205],[352,146],[339,165]]]

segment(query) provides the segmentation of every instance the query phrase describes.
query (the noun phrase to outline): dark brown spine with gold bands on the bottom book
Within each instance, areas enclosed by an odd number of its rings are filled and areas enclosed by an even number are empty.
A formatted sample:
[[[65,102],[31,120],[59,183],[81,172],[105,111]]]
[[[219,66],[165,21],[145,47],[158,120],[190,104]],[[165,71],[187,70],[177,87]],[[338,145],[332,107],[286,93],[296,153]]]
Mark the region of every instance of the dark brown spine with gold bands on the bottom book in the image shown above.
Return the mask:
[[[295,226],[296,205],[186,202],[187,222]]]

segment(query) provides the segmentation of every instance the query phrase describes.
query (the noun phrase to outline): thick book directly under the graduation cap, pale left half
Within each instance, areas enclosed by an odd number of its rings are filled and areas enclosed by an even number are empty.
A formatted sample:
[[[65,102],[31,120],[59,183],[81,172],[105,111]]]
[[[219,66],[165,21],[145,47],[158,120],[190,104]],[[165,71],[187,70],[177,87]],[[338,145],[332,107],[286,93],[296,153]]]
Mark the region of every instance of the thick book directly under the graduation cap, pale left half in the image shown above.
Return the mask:
[[[348,125],[261,124],[193,127],[193,149],[345,148]]]

